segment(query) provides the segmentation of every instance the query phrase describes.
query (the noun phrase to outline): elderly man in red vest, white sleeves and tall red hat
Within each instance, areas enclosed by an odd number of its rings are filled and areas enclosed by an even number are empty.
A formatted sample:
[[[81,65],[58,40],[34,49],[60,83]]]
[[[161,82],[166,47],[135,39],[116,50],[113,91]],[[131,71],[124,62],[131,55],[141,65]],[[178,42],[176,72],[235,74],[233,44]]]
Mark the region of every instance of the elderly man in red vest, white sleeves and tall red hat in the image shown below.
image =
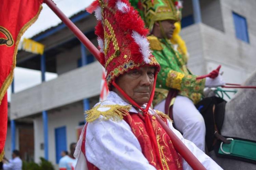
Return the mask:
[[[221,169],[184,139],[167,115],[150,108],[160,67],[146,39],[148,30],[129,1],[97,0],[87,11],[95,11],[99,21],[95,33],[110,94],[86,112],[75,169],[191,169],[156,115],[205,168]]]

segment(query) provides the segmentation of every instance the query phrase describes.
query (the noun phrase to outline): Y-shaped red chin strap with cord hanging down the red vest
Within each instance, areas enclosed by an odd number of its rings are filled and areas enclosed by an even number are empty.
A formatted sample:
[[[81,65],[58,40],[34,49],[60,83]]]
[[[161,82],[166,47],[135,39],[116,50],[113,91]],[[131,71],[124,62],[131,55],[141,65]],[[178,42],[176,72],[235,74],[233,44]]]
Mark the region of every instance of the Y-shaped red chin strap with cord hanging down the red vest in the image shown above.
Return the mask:
[[[151,106],[151,103],[153,101],[153,98],[154,98],[154,94],[155,94],[155,86],[156,86],[156,78],[157,78],[157,73],[155,73],[154,75],[154,85],[153,85],[153,89],[152,89],[152,92],[151,92],[151,95],[150,95],[150,100],[148,101],[147,103],[147,106],[145,109],[143,109],[141,106],[139,106],[134,100],[132,100],[127,94],[126,92],[121,89],[116,83],[115,81],[112,82],[112,85],[126,98],[126,100],[128,100],[130,102],[130,104],[136,106],[137,108],[139,108],[142,112],[143,112],[143,116],[145,118],[145,125],[146,125],[146,130],[147,130],[147,133],[148,135],[150,136],[150,141],[151,141],[151,144],[153,146],[153,149],[155,150],[156,152],[156,155],[157,155],[157,159],[158,159],[158,162],[161,166],[161,169],[164,169],[163,168],[163,165],[161,164],[161,157],[160,157],[160,154],[158,152],[158,145],[157,145],[157,141],[156,141],[156,136],[155,136],[155,133],[154,133],[154,130],[153,130],[153,126],[152,126],[152,123],[151,123],[151,120],[150,120],[150,117],[148,115],[148,109],[150,108]]]

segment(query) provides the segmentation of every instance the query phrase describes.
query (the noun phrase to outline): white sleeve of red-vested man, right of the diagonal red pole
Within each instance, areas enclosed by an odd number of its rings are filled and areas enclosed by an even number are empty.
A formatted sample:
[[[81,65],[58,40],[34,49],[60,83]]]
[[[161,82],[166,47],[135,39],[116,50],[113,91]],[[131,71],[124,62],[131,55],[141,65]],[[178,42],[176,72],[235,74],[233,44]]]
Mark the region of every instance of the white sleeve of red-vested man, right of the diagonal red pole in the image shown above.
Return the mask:
[[[212,158],[210,158],[207,154],[205,154],[203,151],[197,148],[197,146],[193,142],[187,139],[184,139],[182,134],[176,129],[174,129],[172,123],[169,120],[168,120],[168,126],[176,134],[176,136],[181,139],[181,141],[186,145],[186,147],[197,157],[197,159],[203,164],[203,166],[207,170],[222,170],[222,168],[214,160],[212,160]],[[192,168],[188,165],[188,163],[184,159],[183,159],[183,169],[192,170]]]

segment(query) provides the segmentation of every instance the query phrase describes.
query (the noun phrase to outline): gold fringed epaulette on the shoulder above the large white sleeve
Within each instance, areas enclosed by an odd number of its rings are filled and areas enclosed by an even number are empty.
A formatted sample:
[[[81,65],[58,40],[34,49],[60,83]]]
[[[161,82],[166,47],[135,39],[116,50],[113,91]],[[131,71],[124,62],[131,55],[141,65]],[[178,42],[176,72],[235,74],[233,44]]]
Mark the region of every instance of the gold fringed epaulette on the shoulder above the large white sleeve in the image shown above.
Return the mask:
[[[100,109],[108,109],[107,111],[100,111]],[[120,121],[123,119],[123,116],[129,114],[129,110],[131,109],[131,105],[121,106],[118,104],[115,105],[97,105],[86,111],[86,122],[93,122],[102,115],[103,117],[101,120],[113,120],[113,121]]]

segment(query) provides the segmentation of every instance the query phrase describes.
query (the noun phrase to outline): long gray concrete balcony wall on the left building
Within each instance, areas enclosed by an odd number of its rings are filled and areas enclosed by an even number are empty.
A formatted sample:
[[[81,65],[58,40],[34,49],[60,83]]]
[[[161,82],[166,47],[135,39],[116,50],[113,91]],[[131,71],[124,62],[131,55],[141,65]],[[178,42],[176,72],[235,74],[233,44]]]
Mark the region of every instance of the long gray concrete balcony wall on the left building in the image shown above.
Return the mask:
[[[100,93],[102,66],[98,62],[12,94],[11,119],[26,117]]]

